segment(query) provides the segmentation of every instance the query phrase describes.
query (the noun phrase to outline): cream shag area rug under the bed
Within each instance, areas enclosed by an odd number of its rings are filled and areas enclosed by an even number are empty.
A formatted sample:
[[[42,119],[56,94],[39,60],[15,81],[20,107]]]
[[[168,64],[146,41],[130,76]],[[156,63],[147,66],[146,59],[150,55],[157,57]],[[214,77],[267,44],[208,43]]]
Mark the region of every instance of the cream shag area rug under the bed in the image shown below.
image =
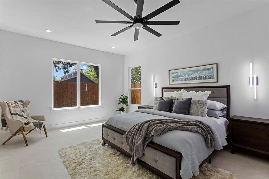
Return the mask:
[[[102,140],[97,139],[62,148],[59,155],[67,172],[74,178],[141,178],[159,179],[155,174],[140,165],[132,166],[130,159],[108,146],[102,146]],[[226,170],[205,163],[199,169],[199,175],[192,179],[238,179]]]

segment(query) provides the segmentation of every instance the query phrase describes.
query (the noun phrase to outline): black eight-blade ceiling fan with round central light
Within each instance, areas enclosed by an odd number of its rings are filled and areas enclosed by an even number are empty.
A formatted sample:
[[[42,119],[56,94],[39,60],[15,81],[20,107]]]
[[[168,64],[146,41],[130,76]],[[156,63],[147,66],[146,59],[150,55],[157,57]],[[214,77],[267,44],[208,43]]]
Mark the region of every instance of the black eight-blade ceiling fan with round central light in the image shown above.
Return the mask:
[[[179,0],[173,0],[169,3],[165,4],[164,6],[160,7],[159,9],[153,11],[152,13],[148,14],[145,17],[142,17],[143,12],[143,5],[144,0],[134,0],[136,5],[136,16],[132,17],[128,13],[126,13],[124,10],[116,6],[113,2],[109,0],[102,0],[109,6],[111,6],[113,9],[130,19],[131,21],[96,21],[97,23],[116,23],[116,24],[130,24],[128,27],[125,27],[124,29],[112,34],[111,36],[116,36],[125,30],[128,30],[132,27],[135,28],[135,34],[134,34],[134,41],[138,40],[138,34],[139,29],[143,28],[147,30],[148,32],[154,34],[155,36],[159,37],[162,34],[158,33],[157,31],[153,30],[152,28],[148,27],[148,25],[178,25],[180,21],[148,21],[151,18],[159,15],[160,13],[170,9],[171,7],[175,6],[176,4],[179,4]]]

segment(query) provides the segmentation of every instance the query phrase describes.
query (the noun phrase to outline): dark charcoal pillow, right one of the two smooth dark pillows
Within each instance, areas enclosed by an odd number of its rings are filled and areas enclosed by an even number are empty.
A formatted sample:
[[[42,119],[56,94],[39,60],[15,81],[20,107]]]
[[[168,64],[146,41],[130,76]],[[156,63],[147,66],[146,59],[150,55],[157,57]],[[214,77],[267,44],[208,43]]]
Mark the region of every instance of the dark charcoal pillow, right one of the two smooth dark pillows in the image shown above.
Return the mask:
[[[192,98],[187,98],[184,100],[176,99],[172,113],[190,115],[191,99]]]

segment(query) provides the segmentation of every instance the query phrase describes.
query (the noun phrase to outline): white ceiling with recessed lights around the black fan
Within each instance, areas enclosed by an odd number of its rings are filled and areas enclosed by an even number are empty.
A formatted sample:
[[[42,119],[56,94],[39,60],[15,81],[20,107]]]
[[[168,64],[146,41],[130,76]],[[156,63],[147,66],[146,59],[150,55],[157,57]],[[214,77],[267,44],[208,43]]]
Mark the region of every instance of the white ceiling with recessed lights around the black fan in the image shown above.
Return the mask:
[[[132,16],[133,0],[111,0]],[[145,0],[143,16],[170,0]],[[193,30],[230,18],[268,1],[257,0],[182,0],[151,20],[180,20],[179,25],[152,25],[161,37],[141,29],[133,41],[134,28],[115,37],[111,34],[128,24],[97,24],[95,20],[128,21],[101,0],[89,1],[1,1],[1,29],[29,36],[64,42],[105,52],[126,55],[175,38]],[[44,29],[52,30],[47,33]],[[111,47],[116,48],[112,49]]]

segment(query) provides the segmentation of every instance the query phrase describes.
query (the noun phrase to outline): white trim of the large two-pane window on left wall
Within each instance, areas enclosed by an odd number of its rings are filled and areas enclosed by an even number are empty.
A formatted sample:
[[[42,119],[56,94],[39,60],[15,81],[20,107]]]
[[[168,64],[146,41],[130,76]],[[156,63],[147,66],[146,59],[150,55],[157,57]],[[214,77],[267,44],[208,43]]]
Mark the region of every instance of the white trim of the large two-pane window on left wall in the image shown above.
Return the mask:
[[[93,63],[87,63],[87,62],[79,62],[79,61],[71,61],[71,60],[64,60],[59,58],[52,58],[52,79],[53,79],[53,72],[54,72],[54,65],[53,61],[63,61],[63,62],[70,62],[70,63],[76,63],[77,64],[77,106],[76,107],[62,107],[62,108],[54,108],[53,102],[54,102],[54,95],[53,95],[53,80],[52,80],[52,109],[51,113],[54,112],[71,112],[71,111],[78,111],[78,110],[88,110],[88,109],[100,109],[102,108],[102,100],[101,100],[101,65],[100,64],[93,64]],[[80,64],[85,65],[93,65],[93,66],[99,66],[99,78],[98,78],[98,87],[99,87],[99,93],[98,93],[98,105],[90,105],[90,106],[80,106]]]

